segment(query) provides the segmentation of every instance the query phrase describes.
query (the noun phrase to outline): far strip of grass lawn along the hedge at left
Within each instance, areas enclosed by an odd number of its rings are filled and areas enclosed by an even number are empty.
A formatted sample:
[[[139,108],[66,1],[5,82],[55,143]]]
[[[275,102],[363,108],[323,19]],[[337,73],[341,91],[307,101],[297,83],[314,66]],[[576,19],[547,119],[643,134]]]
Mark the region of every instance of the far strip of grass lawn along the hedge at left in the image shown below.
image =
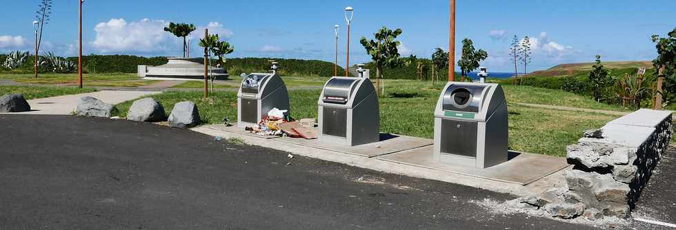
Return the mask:
[[[137,87],[158,81],[141,80],[136,74],[83,74],[83,85],[102,87]],[[77,74],[0,74],[0,79],[37,85],[77,84]]]

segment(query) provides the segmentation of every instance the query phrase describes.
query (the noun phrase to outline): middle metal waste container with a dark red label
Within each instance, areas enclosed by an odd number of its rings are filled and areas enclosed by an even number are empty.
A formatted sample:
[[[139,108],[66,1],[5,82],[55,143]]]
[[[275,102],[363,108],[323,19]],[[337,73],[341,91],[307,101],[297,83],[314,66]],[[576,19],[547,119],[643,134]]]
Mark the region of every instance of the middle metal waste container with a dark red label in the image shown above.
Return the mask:
[[[380,140],[380,112],[368,78],[334,76],[319,101],[319,140],[355,146]]]

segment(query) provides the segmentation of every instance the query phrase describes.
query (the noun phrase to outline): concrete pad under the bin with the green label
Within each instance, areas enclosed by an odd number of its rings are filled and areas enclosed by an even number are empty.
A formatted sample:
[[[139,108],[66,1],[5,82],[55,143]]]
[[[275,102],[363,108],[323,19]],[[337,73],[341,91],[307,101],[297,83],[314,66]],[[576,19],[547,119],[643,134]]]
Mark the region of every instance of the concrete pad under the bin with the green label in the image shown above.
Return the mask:
[[[566,158],[513,151],[510,151],[509,155],[510,160],[506,163],[486,169],[476,169],[474,167],[441,163],[438,160],[433,160],[433,146],[379,156],[378,159],[517,185],[528,185],[530,182],[568,167]]]

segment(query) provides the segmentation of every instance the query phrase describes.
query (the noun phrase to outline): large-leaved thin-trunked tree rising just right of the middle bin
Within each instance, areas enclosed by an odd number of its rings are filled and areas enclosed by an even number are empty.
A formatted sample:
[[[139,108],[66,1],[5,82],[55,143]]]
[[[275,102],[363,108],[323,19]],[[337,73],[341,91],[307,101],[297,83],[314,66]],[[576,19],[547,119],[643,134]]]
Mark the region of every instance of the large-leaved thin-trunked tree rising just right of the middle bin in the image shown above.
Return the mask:
[[[399,63],[399,50],[397,50],[397,46],[401,43],[395,41],[399,34],[401,34],[401,29],[390,30],[383,26],[377,33],[373,34],[375,40],[366,40],[364,36],[359,39],[359,42],[364,46],[364,49],[366,49],[366,52],[375,63],[375,87],[378,95],[380,95],[380,75],[383,72],[383,67],[395,67]]]

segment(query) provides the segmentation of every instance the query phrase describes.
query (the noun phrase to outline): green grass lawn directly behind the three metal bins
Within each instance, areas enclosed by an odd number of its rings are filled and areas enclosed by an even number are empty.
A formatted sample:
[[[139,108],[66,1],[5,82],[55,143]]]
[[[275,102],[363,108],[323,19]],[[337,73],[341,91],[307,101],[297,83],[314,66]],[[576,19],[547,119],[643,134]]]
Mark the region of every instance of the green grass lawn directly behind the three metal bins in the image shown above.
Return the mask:
[[[320,78],[315,82],[320,82]],[[286,78],[285,78],[285,81]],[[291,81],[287,81],[291,82]],[[386,96],[380,98],[381,132],[433,138],[434,118],[432,116],[442,83],[388,80]],[[528,92],[533,92],[528,94]],[[291,90],[291,112],[294,118],[316,118],[317,98],[320,90]],[[587,101],[575,94],[561,90],[546,90],[533,87],[506,87],[509,110],[509,148],[551,156],[565,156],[566,145],[575,143],[586,129],[602,127],[618,116],[558,111],[517,105],[511,102],[543,103],[546,105],[577,106],[589,109],[608,109],[608,105]],[[527,96],[535,95],[535,96]],[[165,92],[154,95],[170,112],[179,101],[194,101],[199,107],[204,123],[221,123],[228,116],[237,118],[236,92],[215,92],[208,99],[201,92]],[[118,105],[121,116],[132,101]]]

